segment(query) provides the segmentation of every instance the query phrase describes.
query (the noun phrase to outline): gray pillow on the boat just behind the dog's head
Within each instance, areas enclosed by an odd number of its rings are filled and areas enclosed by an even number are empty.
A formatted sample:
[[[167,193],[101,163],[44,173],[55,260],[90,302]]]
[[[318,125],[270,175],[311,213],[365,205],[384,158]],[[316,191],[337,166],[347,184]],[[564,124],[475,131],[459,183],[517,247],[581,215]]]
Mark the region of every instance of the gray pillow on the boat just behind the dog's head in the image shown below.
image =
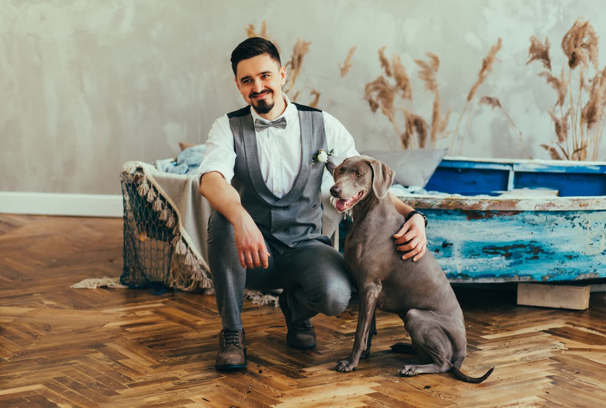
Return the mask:
[[[425,187],[448,149],[366,150],[363,155],[384,162],[402,186]]]

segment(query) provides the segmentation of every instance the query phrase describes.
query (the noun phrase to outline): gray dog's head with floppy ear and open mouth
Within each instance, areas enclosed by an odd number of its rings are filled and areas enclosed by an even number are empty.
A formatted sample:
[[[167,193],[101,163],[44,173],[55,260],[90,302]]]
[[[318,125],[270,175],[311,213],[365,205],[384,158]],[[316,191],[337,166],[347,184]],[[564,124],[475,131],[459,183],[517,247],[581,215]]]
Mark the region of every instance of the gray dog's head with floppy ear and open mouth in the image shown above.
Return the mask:
[[[330,187],[330,194],[336,198],[336,209],[351,209],[370,194],[385,198],[394,176],[386,164],[369,156],[345,159],[333,170],[335,184]]]

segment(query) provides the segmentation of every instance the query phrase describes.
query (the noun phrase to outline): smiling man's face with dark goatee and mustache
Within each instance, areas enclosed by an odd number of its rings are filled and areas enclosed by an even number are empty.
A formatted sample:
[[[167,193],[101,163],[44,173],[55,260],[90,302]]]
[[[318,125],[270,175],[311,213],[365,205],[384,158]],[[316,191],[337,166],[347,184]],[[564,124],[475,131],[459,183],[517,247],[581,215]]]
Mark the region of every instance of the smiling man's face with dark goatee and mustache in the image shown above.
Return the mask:
[[[282,98],[286,70],[268,54],[262,54],[238,62],[235,81],[244,101],[264,115],[273,109],[277,98]]]

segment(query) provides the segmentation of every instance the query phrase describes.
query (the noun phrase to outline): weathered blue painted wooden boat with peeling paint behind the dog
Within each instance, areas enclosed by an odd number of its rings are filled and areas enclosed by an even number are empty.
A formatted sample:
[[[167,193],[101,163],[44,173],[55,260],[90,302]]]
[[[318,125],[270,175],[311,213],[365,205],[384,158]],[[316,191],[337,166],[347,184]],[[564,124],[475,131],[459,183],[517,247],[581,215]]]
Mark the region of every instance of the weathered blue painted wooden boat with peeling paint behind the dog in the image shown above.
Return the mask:
[[[428,192],[428,250],[451,282],[606,277],[606,162],[445,158]]]

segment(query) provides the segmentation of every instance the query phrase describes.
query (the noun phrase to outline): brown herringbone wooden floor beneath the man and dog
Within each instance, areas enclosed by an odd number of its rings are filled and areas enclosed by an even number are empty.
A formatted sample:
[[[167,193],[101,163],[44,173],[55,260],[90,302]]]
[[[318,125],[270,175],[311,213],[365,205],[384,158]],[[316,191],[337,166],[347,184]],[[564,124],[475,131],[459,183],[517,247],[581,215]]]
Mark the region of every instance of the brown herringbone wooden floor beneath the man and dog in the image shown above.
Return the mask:
[[[606,294],[582,312],[516,306],[511,290],[461,289],[464,372],[401,378],[413,356],[397,316],[378,314],[373,352],[353,373],[356,305],[315,318],[318,347],[285,345],[281,312],[245,303],[248,368],[214,368],[220,329],[213,296],[70,289],[119,276],[122,220],[0,215],[2,407],[504,407],[606,405]]]

